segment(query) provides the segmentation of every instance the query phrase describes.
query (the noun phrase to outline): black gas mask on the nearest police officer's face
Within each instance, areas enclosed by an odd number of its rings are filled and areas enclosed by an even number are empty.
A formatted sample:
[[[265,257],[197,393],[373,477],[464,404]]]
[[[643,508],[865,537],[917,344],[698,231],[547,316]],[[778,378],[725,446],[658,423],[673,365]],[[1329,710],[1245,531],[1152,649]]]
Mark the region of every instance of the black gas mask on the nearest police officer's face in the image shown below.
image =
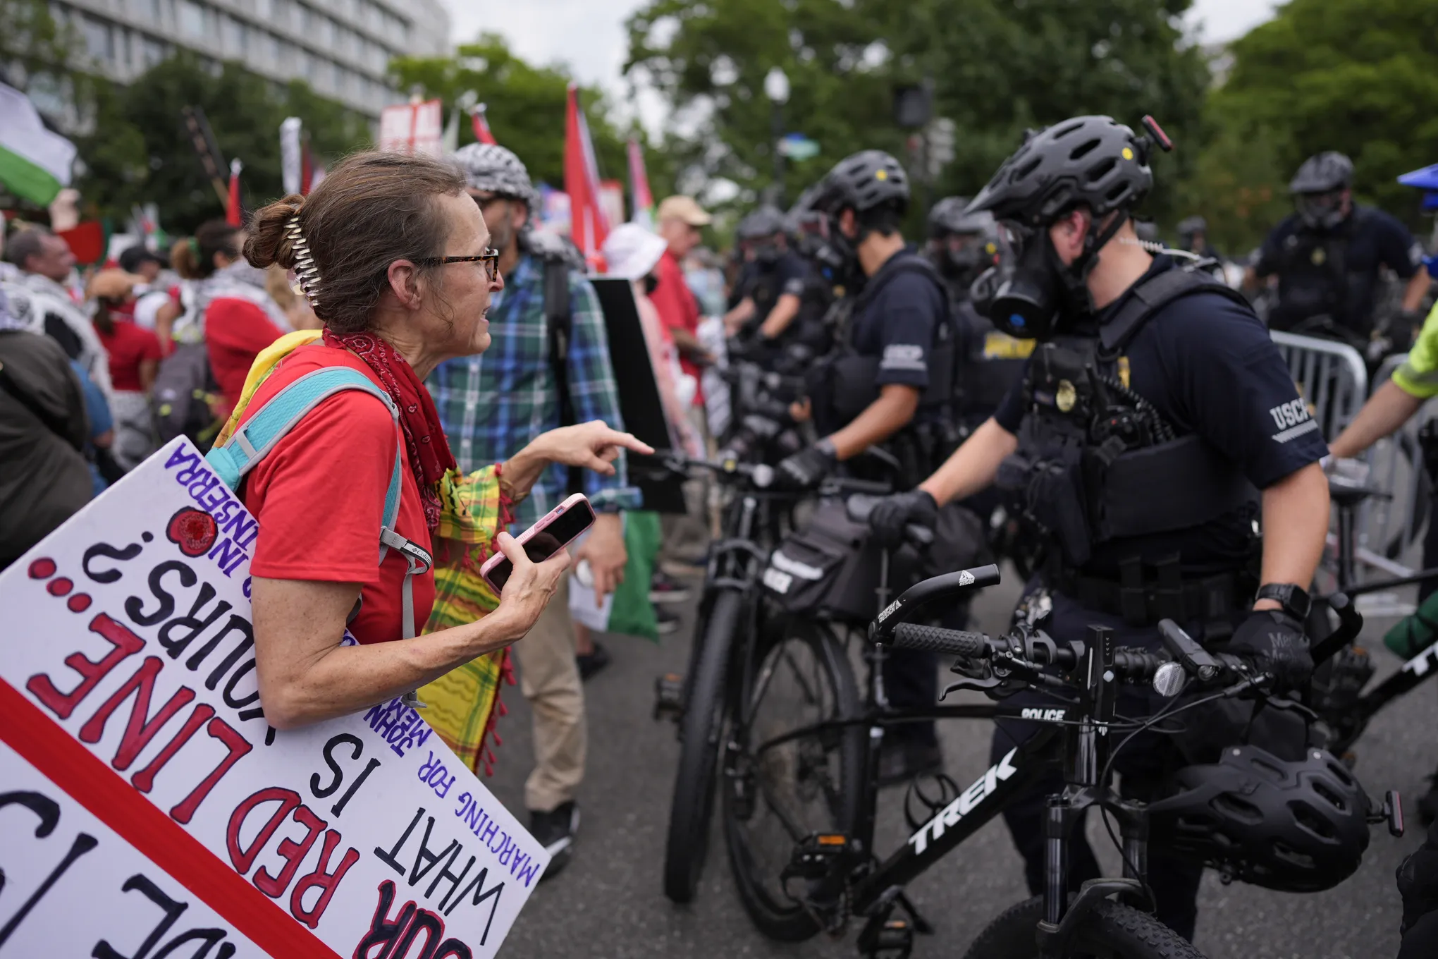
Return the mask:
[[[1086,250],[1064,266],[1048,230],[1001,224],[998,262],[969,288],[975,309],[1018,339],[1048,339],[1060,316],[1070,324],[1093,313],[1084,283],[1097,256]]]

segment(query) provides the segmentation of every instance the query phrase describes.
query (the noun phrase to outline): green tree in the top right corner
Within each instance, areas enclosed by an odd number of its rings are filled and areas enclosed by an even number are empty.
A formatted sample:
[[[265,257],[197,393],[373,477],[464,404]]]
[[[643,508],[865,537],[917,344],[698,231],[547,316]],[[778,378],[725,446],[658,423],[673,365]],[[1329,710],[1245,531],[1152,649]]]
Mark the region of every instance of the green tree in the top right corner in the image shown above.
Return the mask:
[[[1353,158],[1355,193],[1411,224],[1419,196],[1396,177],[1438,160],[1438,6],[1408,0],[1291,0],[1231,46],[1232,70],[1209,102],[1218,129],[1189,193],[1222,236],[1258,243],[1291,210],[1287,183],[1306,157]],[[1271,196],[1235,204],[1225,190]]]

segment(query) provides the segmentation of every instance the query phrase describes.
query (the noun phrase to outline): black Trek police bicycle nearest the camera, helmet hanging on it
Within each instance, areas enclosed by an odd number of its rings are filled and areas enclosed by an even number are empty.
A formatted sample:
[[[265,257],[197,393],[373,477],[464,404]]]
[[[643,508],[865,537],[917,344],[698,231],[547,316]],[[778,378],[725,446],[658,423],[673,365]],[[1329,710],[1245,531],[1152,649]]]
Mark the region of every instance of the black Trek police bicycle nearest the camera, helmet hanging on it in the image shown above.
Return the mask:
[[[1185,838],[1186,828],[1194,851],[1222,870],[1225,878],[1280,887],[1271,871],[1264,873],[1271,863],[1258,866],[1245,861],[1247,855],[1278,853],[1254,853],[1247,844],[1215,851],[1208,824],[1201,821],[1204,802],[1209,798],[1202,788],[1179,791],[1176,797],[1152,807],[1120,797],[1110,779],[1114,758],[1135,735],[1145,730],[1176,732],[1160,723],[1215,699],[1242,696],[1281,709],[1303,707],[1293,700],[1268,697],[1268,674],[1238,657],[1208,653],[1172,621],[1159,627],[1168,656],[1116,648],[1110,631],[1102,627],[1094,627],[1087,641],[1060,644],[1028,625],[991,638],[909,621],[935,605],[953,602],[997,582],[997,566],[952,572],[919,582],[884,607],[869,630],[871,643],[864,657],[870,664],[870,677],[863,709],[846,712],[846,703],[854,699],[854,680],[848,661],[833,640],[825,644],[821,661],[835,702],[815,710],[825,713],[823,717],[805,725],[779,722],[778,728],[758,719],[775,692],[768,661],[766,669],[741,689],[738,722],[731,730],[725,756],[725,832],[746,910],[762,932],[789,940],[820,930],[838,935],[851,917],[861,917],[864,924],[857,940],[861,955],[907,956],[913,933],[932,929],[905,897],[905,886],[998,817],[1012,797],[1057,765],[1063,768],[1066,786],[1048,799],[1044,894],[1002,913],[966,955],[972,959],[1073,955],[1199,959],[1196,949],[1149,914],[1152,894],[1145,873],[1150,811],[1166,814],[1176,841]],[[1342,615],[1334,635],[1345,641],[1356,637],[1362,618],[1352,605],[1334,598],[1334,610]],[[952,669],[961,679],[945,694],[966,689],[1002,697],[1030,689],[1054,696],[1055,706],[936,705],[922,710],[894,710],[887,706],[881,684],[880,667],[889,648],[929,650],[956,657]],[[1116,709],[1123,684],[1152,684],[1159,694],[1171,697],[1169,705],[1145,720],[1126,719]],[[1196,694],[1175,699],[1185,686]],[[794,694],[795,690],[784,690],[785,699],[792,700]],[[1045,728],[1011,749],[966,789],[951,786],[923,795],[910,788],[905,814],[913,832],[899,850],[880,857],[874,848],[874,809],[877,755],[884,730],[903,722],[940,717],[1027,719],[1045,723]],[[1116,738],[1119,742],[1112,746]],[[1360,855],[1370,822],[1388,821],[1395,834],[1402,830],[1396,794],[1389,794],[1382,811],[1378,811],[1347,769],[1327,753],[1310,751],[1304,761],[1290,763],[1283,772],[1277,769],[1283,763],[1261,749],[1235,746],[1225,753],[1231,755],[1225,755],[1221,763],[1234,768],[1218,768],[1218,772],[1238,775],[1240,781],[1247,771],[1238,766],[1254,763],[1260,776],[1278,774],[1288,786],[1297,781],[1319,782],[1322,792],[1317,794],[1317,804],[1332,801],[1342,808],[1314,809],[1311,818],[1323,828],[1346,828],[1343,838],[1349,853],[1356,848]],[[1296,775],[1294,769],[1300,774]],[[942,786],[942,781],[938,785]],[[1280,789],[1271,784],[1260,785]],[[916,797],[919,814],[910,802]],[[1244,801],[1227,794],[1219,798],[1235,804]],[[810,820],[794,815],[801,799],[807,799]],[[1307,804],[1280,804],[1280,809],[1290,809],[1281,815],[1291,820],[1296,805],[1309,808]],[[1123,876],[1090,880],[1070,894],[1067,838],[1090,808],[1100,809],[1109,835],[1122,851]],[[1109,822],[1110,815],[1117,821],[1117,835]],[[1336,817],[1336,825],[1324,815]],[[815,822],[824,821],[833,825],[814,828]],[[774,822],[781,827],[778,831],[762,828]],[[1261,815],[1258,825],[1261,831]],[[1276,828],[1276,835],[1283,835],[1283,828],[1288,827],[1303,830],[1306,824],[1284,822]],[[1362,837],[1352,834],[1355,828],[1362,830]],[[1284,848],[1278,840],[1271,847]],[[777,854],[785,857],[782,866],[778,866]],[[1288,864],[1300,878],[1284,876],[1288,881],[1286,889],[1300,891],[1334,884],[1303,886],[1301,858],[1294,855]],[[1313,863],[1309,861],[1309,866]],[[1339,880],[1356,867],[1356,858],[1343,863]]]

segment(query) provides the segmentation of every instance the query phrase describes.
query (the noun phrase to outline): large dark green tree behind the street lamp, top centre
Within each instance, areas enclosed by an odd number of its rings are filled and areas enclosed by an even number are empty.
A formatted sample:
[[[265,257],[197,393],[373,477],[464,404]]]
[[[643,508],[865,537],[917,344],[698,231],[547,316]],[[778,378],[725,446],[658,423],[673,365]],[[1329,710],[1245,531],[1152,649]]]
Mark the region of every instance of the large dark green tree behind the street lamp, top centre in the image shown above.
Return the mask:
[[[928,81],[935,114],[958,125],[955,160],[933,196],[972,194],[1024,128],[1077,114],[1136,124],[1150,112],[1182,141],[1198,127],[1208,85],[1206,63],[1179,27],[1188,7],[1189,0],[651,0],[628,22],[627,69],[647,75],[674,116],[705,116],[692,139],[706,173],[758,190],[772,177],[764,78],[781,68],[791,82],[785,128],[808,134],[823,151],[789,165],[789,197],[856,150],[905,157],[893,88]],[[1178,164],[1171,170],[1163,181],[1176,178]],[[1158,191],[1153,206],[1166,211],[1169,196]]]

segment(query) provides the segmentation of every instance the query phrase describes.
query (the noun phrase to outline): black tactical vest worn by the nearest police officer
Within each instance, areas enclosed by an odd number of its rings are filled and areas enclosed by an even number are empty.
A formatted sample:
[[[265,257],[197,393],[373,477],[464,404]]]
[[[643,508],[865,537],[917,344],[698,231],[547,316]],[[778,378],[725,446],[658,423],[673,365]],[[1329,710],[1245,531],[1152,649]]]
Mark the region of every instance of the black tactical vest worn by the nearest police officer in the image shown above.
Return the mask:
[[[1066,568],[1081,568],[1100,543],[1202,526],[1257,499],[1237,463],[1196,434],[1179,436],[1126,385],[1120,357],[1143,324],[1201,292],[1247,308],[1206,273],[1172,269],[1140,283],[1096,336],[1034,349],[1028,414],[998,485],[1022,496]]]

